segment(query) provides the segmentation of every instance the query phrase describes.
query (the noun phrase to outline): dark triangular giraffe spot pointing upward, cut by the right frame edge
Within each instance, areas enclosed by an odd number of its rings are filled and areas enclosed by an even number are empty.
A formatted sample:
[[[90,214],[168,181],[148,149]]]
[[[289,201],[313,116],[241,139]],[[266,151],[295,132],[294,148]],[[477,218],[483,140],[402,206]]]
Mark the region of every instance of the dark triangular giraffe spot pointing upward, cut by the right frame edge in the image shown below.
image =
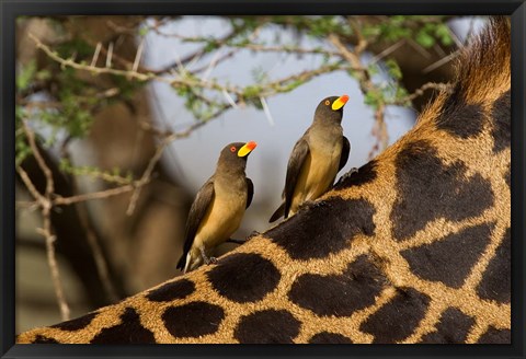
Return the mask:
[[[495,256],[488,264],[482,280],[477,286],[477,293],[482,299],[510,303],[512,291],[512,254],[511,230],[507,228],[502,243],[495,251]]]

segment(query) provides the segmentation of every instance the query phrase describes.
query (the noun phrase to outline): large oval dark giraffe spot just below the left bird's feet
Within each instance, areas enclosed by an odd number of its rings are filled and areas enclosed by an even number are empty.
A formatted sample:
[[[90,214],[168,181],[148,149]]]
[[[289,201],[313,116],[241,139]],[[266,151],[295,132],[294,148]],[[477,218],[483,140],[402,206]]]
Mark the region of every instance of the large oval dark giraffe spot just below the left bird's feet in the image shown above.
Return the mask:
[[[281,278],[271,260],[254,253],[229,255],[207,276],[219,294],[239,303],[263,299],[277,287]]]

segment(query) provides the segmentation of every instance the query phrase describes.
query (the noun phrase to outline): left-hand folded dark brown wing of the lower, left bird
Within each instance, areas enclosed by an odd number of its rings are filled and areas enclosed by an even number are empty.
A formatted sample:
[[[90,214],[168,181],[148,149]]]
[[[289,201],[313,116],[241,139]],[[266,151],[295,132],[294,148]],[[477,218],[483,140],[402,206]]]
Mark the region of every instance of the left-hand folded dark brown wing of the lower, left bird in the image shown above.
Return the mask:
[[[185,240],[183,246],[183,255],[181,259],[179,259],[178,268],[183,269],[186,255],[194,243],[195,234],[197,234],[197,229],[199,228],[203,218],[205,218],[206,211],[210,206],[211,201],[214,200],[214,176],[210,177],[201,189],[197,192],[197,196],[195,196],[194,202],[190,208],[188,219],[186,220],[186,231],[185,231]]]

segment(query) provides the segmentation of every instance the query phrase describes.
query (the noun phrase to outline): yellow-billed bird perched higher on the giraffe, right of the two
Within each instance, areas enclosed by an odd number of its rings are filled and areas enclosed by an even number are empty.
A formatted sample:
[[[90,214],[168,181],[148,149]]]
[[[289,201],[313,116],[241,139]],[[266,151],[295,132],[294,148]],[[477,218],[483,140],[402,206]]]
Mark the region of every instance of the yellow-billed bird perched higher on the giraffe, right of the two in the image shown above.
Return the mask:
[[[307,200],[315,200],[334,183],[351,151],[341,126],[347,95],[323,99],[316,107],[312,125],[296,142],[288,160],[282,197],[284,202],[268,222],[288,218]]]

